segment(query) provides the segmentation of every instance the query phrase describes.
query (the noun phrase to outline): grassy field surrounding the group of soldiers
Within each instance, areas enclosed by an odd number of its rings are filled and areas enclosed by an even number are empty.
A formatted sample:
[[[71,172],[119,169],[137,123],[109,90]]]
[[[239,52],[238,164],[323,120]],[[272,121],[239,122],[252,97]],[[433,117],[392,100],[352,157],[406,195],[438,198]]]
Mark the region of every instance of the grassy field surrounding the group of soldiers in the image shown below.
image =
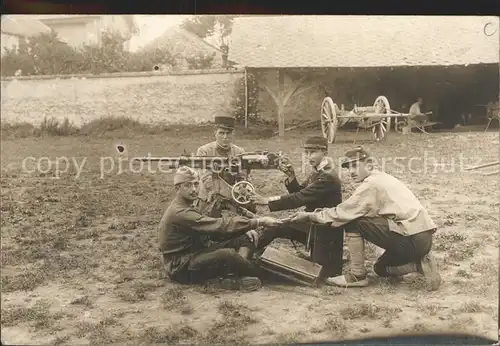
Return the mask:
[[[300,171],[304,135],[237,142],[247,150],[284,150]],[[386,162],[385,170],[411,187],[439,226],[434,249],[444,282],[435,292],[422,289],[413,275],[393,282],[371,274],[372,286],[363,289],[283,283],[249,294],[166,280],[156,227],[173,196],[172,175],[134,173],[127,161],[120,171],[115,148],[125,144],[129,156],[177,155],[210,140],[208,130],[3,139],[2,341],[291,343],[442,331],[497,338],[498,175],[462,168],[498,160],[498,133],[362,142],[378,158],[399,158]],[[341,131],[331,156],[352,146],[352,134]],[[56,168],[46,170],[40,160],[41,171],[29,173],[33,161],[25,170],[22,162],[30,156],[60,158],[59,169],[68,169],[56,179]],[[103,172],[102,157],[108,157]],[[252,176],[264,195],[286,191],[279,172]],[[347,197],[353,186],[345,183]],[[279,245],[294,251],[286,241]],[[369,250],[371,270],[375,256]]]

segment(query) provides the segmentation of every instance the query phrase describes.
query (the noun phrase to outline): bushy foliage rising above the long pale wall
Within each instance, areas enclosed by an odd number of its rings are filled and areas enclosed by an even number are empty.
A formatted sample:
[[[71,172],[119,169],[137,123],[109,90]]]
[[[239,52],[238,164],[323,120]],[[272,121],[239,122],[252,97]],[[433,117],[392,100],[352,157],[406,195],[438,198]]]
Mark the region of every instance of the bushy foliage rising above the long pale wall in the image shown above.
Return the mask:
[[[19,42],[17,49],[5,48],[2,76],[141,72],[155,65],[175,66],[175,56],[166,48],[131,53],[125,42],[117,32],[103,32],[100,44],[74,48],[54,31],[40,34]]]

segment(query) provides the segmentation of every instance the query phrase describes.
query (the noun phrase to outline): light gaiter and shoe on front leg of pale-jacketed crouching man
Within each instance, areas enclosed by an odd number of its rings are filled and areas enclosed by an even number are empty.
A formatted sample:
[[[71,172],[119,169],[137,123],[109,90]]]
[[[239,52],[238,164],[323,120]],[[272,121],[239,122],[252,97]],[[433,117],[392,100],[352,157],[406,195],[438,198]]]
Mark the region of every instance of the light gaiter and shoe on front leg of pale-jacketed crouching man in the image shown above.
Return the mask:
[[[326,284],[339,287],[366,287],[370,284],[366,277],[365,241],[359,233],[346,233],[346,245],[349,249],[349,271],[340,276],[330,277]]]

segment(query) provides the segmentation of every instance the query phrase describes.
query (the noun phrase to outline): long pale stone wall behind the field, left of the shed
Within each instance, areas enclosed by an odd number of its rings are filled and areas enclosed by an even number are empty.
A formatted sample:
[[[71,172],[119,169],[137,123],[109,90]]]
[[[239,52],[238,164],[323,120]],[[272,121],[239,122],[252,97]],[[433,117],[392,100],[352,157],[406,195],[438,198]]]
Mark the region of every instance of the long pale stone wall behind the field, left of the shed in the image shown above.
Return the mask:
[[[47,118],[76,126],[104,116],[129,116],[149,124],[210,122],[234,95],[242,71],[119,73],[2,79],[1,119],[39,125]]]

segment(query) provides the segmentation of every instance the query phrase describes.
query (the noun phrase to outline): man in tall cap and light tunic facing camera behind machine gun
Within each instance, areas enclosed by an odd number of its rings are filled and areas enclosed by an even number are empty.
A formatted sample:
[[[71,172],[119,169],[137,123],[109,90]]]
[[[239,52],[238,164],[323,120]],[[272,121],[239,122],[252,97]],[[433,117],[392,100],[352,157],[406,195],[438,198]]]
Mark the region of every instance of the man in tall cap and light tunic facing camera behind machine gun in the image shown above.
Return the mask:
[[[216,126],[215,141],[199,147],[196,151],[196,156],[234,157],[243,154],[245,150],[233,144],[235,122],[236,119],[233,117],[216,116],[214,118]],[[216,210],[217,208],[215,207],[217,201],[213,196],[215,193],[213,181],[214,174],[210,170],[201,171],[200,174],[200,211],[212,216],[220,216],[220,210]],[[246,174],[244,172],[240,174],[240,178],[245,176]],[[230,185],[235,183],[235,181],[232,181],[233,177],[227,174],[222,174],[222,178]]]

